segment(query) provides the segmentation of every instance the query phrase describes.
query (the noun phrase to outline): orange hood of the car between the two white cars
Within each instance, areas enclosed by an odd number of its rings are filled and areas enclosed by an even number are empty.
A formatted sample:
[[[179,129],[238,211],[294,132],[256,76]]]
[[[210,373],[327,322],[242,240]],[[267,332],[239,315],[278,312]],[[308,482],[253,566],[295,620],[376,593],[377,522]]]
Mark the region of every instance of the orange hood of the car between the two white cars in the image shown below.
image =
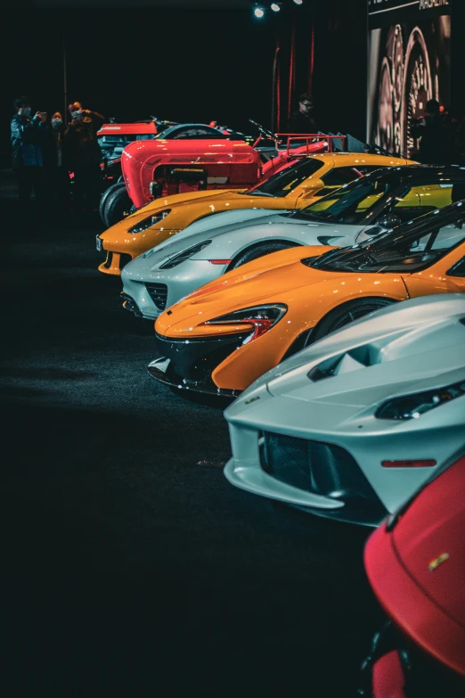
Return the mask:
[[[155,330],[170,335],[192,332],[192,322],[187,322],[192,317],[196,318],[195,324],[204,323],[259,303],[283,302],[283,298],[290,298],[290,292],[311,283],[350,276],[347,272],[327,272],[301,263],[301,259],[319,256],[330,249],[322,245],[290,248],[249,262],[168,308],[159,316]],[[224,332],[231,332],[231,326],[224,327]]]

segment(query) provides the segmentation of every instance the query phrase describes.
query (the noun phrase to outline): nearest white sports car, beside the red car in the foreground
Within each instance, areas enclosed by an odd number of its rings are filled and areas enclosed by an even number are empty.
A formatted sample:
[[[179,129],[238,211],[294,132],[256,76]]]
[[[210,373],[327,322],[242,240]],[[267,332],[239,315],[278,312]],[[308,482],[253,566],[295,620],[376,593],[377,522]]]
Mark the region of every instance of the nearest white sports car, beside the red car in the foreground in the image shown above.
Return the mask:
[[[233,485],[378,525],[465,442],[465,297],[405,300],[347,325],[224,414]]]

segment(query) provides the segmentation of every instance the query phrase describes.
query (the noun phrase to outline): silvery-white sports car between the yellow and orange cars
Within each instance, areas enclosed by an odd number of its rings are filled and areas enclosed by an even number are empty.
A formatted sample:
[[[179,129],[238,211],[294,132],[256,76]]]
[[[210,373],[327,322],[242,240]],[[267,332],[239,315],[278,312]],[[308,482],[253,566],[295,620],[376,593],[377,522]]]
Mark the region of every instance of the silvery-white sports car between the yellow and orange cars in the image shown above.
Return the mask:
[[[219,213],[129,262],[121,274],[123,300],[136,316],[155,319],[204,283],[252,259],[298,245],[362,242],[464,195],[465,170],[409,165],[378,169],[291,213]]]

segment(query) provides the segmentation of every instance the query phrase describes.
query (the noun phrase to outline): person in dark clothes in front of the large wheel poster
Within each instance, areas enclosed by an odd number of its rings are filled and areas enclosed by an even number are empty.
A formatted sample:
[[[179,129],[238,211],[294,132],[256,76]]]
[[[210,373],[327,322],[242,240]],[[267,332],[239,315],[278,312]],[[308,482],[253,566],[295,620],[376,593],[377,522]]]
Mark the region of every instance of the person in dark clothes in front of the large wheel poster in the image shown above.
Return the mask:
[[[412,135],[420,138],[418,159],[424,165],[451,165],[457,161],[456,124],[447,113],[441,113],[436,99],[426,103],[422,119],[412,123]]]

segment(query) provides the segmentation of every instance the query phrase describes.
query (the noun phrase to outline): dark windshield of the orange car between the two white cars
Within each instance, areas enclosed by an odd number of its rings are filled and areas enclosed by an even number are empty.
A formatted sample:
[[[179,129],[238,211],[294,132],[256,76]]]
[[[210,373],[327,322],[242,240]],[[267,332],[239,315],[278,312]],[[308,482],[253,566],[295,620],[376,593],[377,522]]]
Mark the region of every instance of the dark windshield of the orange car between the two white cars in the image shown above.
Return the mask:
[[[465,201],[410,221],[358,245],[330,250],[317,259],[303,259],[307,267],[327,271],[405,272],[434,264],[465,242]]]

